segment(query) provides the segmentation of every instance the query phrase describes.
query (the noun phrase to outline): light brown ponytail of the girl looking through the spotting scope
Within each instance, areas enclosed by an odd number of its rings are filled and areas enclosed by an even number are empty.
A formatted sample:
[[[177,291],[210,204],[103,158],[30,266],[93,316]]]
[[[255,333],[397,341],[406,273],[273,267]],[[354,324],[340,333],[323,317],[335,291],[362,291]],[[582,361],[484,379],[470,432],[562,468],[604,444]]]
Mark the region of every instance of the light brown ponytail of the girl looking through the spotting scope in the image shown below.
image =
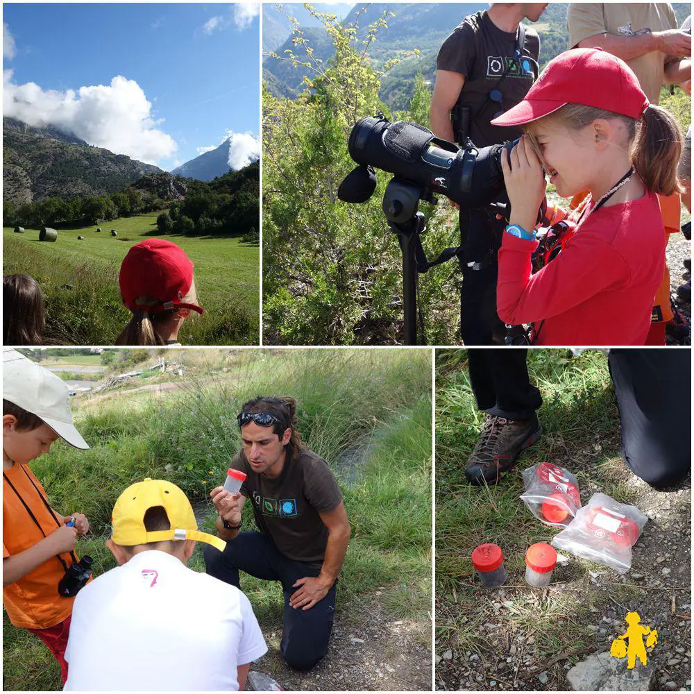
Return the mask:
[[[631,159],[636,173],[654,193],[682,192],[677,180],[682,140],[682,130],[675,118],[664,108],[649,105],[636,128]]]

